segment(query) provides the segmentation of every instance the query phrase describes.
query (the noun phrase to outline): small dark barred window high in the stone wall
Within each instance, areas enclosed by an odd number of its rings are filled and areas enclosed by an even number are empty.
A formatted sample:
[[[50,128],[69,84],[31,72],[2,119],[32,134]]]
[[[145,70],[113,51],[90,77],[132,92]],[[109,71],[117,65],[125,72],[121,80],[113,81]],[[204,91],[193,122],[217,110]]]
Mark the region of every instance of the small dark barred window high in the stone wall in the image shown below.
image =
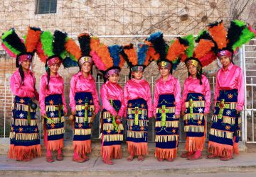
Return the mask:
[[[37,0],[36,14],[56,13],[57,0]]]

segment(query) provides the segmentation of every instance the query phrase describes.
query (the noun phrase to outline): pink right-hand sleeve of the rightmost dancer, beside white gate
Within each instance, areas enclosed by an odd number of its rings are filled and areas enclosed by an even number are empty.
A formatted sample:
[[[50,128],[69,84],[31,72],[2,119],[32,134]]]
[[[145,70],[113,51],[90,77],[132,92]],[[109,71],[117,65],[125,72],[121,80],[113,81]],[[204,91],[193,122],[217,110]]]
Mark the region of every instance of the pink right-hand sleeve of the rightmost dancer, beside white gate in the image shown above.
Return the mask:
[[[245,85],[244,85],[243,76],[242,76],[242,69],[239,68],[237,110],[242,110],[243,105],[245,105]]]

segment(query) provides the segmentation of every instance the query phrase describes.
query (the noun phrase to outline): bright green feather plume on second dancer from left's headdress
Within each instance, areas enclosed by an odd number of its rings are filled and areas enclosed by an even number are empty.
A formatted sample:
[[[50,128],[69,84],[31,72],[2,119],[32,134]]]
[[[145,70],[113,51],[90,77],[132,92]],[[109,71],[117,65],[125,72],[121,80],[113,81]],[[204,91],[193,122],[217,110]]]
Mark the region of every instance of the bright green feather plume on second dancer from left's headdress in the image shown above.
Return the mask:
[[[53,56],[53,35],[50,31],[44,31],[41,33],[41,42],[43,45],[43,52],[48,56]]]

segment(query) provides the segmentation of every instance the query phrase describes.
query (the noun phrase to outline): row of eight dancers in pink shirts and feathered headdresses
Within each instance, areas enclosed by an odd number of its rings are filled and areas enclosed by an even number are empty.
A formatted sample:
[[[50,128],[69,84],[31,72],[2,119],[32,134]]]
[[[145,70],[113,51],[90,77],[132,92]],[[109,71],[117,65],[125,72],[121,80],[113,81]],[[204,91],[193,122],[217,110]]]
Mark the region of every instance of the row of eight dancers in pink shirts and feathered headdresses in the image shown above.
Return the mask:
[[[233,35],[238,33],[238,35]],[[201,159],[206,141],[206,114],[210,112],[210,86],[202,68],[217,57],[223,64],[218,71],[214,96],[213,124],[210,128],[208,159],[233,159],[238,153],[239,113],[244,104],[244,86],[241,69],[233,64],[234,51],[254,38],[247,25],[232,21],[228,32],[222,22],[208,25],[196,38],[193,35],[174,39],[167,45],[162,33],[154,33],[140,43],[123,47],[107,46],[88,34],[78,36],[80,46],[66,33],[58,30],[52,35],[38,28],[28,28],[26,39],[21,40],[14,29],[2,36],[2,46],[16,57],[18,70],[11,76],[11,91],[14,93],[13,118],[11,118],[11,145],[9,157],[31,161],[41,155],[40,139],[36,124],[33,99],[39,99],[44,118],[44,142],[46,160],[53,162],[51,151],[57,150],[57,160],[63,159],[64,115],[67,106],[64,97],[63,79],[58,75],[60,64],[64,67],[78,65],[80,72],[70,82],[70,108],[73,117],[73,161],[84,162],[91,152],[91,122],[100,110],[95,80],[90,71],[92,64],[102,71],[105,84],[100,89],[102,99],[101,156],[105,164],[122,157],[122,118],[127,123],[127,161],[137,156],[144,160],[148,153],[147,132],[149,118],[156,119],[155,156],[159,161],[174,161],[178,147],[178,120],[181,115],[186,132],[186,150],[182,157]],[[241,39],[247,40],[241,40]],[[36,91],[36,79],[29,69],[33,52],[46,63],[46,74],[41,78],[40,94]],[[144,69],[156,61],[161,78],[156,81],[154,103],[150,86],[142,79]],[[181,87],[172,76],[178,63],[188,68],[188,79]],[[122,87],[117,84],[119,72],[127,62],[130,68],[129,81]]]

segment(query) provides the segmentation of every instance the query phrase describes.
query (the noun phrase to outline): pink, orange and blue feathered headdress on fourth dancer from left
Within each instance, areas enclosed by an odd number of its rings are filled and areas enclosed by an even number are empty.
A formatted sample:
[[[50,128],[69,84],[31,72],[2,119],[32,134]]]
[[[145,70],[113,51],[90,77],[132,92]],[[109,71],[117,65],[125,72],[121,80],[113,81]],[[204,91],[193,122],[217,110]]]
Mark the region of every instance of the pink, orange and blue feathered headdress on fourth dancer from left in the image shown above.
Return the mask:
[[[112,74],[119,74],[124,66],[124,58],[120,55],[121,51],[122,47],[119,45],[107,46],[100,44],[91,53],[93,62],[100,72],[104,74],[105,79]]]

